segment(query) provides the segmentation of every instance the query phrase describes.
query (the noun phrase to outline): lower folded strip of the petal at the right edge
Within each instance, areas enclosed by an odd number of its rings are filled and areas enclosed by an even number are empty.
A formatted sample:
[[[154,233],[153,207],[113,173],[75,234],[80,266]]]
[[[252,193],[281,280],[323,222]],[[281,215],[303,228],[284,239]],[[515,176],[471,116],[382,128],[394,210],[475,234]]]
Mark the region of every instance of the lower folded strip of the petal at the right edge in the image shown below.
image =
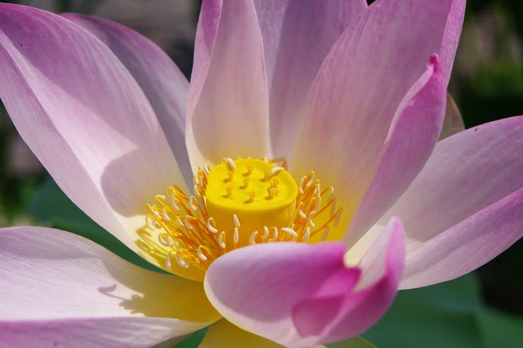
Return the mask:
[[[523,236],[523,188],[410,250],[400,288],[427,286],[469,273]]]

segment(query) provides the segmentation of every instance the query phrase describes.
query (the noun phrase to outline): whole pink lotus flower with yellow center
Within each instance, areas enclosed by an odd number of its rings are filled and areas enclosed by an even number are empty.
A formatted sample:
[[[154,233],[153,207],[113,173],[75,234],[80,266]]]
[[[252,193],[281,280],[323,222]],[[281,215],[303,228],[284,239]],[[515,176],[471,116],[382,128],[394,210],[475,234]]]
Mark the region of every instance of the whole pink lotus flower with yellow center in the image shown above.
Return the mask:
[[[508,248],[523,118],[437,142],[464,8],[203,1],[189,84],[126,27],[0,4],[19,133],[75,204],[170,273],[5,228],[2,346],[160,347],[209,325],[201,347],[327,344],[398,289]]]

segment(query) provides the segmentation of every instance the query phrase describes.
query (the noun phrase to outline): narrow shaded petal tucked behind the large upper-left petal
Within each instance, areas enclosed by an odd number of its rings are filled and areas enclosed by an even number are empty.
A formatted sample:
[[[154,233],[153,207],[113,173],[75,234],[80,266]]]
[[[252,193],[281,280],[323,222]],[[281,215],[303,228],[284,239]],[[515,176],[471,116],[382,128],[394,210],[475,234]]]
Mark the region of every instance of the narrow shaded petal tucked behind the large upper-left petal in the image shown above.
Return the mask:
[[[186,182],[192,182],[185,146],[189,82],[173,60],[154,42],[121,24],[87,15],[60,15],[105,43],[132,74],[151,103]]]

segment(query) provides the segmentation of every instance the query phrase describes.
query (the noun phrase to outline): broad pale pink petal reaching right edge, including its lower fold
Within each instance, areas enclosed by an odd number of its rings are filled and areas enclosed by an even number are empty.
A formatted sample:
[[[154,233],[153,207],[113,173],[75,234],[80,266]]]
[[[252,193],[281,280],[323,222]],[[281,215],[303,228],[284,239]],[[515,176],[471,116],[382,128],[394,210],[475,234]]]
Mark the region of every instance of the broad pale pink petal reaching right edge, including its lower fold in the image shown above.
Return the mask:
[[[411,187],[379,222],[398,215],[405,224],[409,280],[402,287],[470,272],[521,237],[522,149],[523,116],[483,124],[436,145]],[[419,264],[422,254],[438,259],[437,265]],[[445,274],[442,265],[448,266]]]

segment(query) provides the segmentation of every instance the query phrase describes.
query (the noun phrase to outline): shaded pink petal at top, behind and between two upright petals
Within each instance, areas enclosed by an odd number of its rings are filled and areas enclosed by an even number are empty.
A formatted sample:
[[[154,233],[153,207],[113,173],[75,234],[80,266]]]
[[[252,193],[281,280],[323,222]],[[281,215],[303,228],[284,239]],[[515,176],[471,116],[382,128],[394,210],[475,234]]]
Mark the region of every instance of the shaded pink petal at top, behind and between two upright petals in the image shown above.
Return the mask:
[[[290,160],[312,82],[365,0],[255,0],[263,37],[272,153]]]

